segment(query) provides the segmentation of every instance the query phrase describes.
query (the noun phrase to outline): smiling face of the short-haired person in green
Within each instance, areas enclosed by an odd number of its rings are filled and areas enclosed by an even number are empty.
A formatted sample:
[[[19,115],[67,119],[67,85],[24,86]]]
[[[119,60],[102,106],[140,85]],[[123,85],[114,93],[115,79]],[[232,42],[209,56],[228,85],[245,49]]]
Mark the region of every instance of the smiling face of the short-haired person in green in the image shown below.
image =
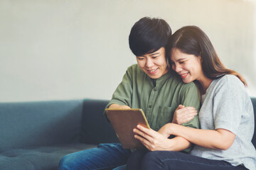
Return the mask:
[[[167,67],[166,55],[164,47],[156,52],[146,55],[137,56],[137,63],[151,79],[159,79],[169,70]]]

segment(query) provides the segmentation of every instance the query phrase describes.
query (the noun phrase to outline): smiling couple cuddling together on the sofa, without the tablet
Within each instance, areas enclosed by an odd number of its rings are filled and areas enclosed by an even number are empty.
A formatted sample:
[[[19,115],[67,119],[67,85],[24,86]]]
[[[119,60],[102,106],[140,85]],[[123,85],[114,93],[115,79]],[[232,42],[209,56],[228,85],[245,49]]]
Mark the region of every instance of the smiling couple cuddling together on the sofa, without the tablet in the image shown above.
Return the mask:
[[[151,129],[137,126],[134,137],[145,149],[100,144],[66,155],[59,170],[256,169],[246,81],[220,62],[203,30],[185,26],[171,35],[166,21],[145,17],[132,27],[129,47],[137,64],[107,108],[142,108]]]

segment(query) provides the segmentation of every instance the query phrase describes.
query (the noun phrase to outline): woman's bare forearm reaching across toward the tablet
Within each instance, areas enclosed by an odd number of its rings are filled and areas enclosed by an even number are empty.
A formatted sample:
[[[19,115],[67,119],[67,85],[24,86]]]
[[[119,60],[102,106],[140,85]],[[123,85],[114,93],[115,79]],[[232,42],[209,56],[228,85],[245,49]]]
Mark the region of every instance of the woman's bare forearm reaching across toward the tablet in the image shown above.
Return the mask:
[[[172,135],[184,137],[189,142],[201,147],[225,150],[233,144],[233,137],[230,139],[230,137],[227,137],[229,134],[224,134],[220,130],[201,130],[176,124],[169,125]]]

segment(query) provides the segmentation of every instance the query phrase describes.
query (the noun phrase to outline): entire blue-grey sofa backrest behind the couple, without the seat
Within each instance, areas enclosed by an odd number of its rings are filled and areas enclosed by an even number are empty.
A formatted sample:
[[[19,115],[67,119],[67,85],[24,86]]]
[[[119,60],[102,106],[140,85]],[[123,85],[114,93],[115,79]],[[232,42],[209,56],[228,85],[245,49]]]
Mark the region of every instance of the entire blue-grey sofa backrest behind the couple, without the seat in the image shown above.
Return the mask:
[[[252,97],[256,123],[256,98]],[[105,100],[0,103],[0,152],[85,142],[119,142],[103,115]],[[256,125],[252,143],[256,147]]]

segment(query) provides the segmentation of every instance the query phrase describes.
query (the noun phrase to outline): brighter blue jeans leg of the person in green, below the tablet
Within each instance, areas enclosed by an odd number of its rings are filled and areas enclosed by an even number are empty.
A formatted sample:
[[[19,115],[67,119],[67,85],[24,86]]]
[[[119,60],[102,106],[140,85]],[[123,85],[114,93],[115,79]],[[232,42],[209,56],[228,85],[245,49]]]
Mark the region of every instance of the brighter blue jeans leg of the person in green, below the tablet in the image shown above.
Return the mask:
[[[100,144],[92,149],[67,154],[60,160],[58,170],[114,169],[117,166],[122,169],[130,154],[131,151],[121,144]]]

